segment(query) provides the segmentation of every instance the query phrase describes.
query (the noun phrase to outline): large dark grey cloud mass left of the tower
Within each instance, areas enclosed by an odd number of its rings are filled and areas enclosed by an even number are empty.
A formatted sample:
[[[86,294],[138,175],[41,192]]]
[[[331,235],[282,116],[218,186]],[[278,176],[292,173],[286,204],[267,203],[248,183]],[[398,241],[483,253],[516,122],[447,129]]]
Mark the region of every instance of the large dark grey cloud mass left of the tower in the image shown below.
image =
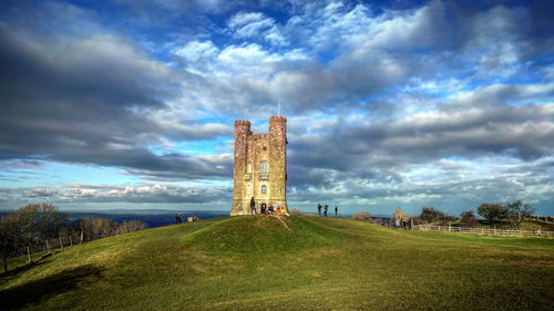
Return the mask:
[[[0,159],[115,166],[174,178],[228,174],[228,160],[158,156],[147,148],[164,137],[211,139],[232,128],[156,120],[171,111],[165,102],[176,96],[179,74],[143,55],[133,41],[86,29],[78,37],[30,32],[9,21],[0,28]]]

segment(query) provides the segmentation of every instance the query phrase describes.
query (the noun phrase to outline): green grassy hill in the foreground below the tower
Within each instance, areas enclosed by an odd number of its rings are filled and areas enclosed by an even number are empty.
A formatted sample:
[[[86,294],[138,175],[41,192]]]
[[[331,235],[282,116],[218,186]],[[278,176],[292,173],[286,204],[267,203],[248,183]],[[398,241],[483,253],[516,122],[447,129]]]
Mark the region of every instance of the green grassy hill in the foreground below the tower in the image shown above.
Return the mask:
[[[554,240],[232,217],[96,240],[0,277],[2,310],[553,310]]]

